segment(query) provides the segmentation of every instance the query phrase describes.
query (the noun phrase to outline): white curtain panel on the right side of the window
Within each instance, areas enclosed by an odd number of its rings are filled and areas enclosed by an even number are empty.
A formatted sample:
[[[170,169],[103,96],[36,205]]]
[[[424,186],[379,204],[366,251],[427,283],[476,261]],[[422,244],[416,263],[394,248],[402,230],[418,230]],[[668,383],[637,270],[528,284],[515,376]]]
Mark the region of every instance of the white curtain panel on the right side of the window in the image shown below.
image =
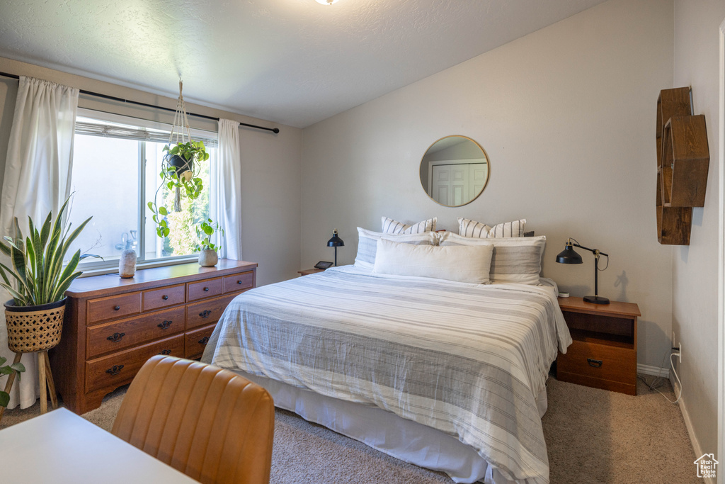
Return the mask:
[[[223,227],[220,258],[241,261],[241,157],[239,123],[219,120],[218,157],[211,167],[212,218]]]

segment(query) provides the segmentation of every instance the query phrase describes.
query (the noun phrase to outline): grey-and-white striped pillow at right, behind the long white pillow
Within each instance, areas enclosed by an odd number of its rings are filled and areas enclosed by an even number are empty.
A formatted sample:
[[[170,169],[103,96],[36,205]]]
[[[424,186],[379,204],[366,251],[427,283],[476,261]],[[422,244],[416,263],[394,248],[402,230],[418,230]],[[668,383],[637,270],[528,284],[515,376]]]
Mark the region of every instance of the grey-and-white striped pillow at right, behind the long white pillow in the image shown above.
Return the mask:
[[[452,232],[440,234],[442,247],[455,245],[493,244],[494,255],[491,259],[491,282],[516,282],[519,284],[539,284],[542,271],[542,255],[546,247],[546,237],[508,237],[499,239],[476,239],[463,237]]]

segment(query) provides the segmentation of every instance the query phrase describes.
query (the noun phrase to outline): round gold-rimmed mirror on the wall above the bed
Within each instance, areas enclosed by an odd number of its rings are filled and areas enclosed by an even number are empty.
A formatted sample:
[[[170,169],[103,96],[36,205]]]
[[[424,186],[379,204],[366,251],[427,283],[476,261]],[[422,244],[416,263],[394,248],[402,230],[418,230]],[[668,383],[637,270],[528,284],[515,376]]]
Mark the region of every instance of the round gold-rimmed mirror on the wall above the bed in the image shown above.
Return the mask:
[[[476,200],[489,180],[489,159],[465,136],[446,136],[428,148],[421,160],[421,184],[435,202],[460,207]]]

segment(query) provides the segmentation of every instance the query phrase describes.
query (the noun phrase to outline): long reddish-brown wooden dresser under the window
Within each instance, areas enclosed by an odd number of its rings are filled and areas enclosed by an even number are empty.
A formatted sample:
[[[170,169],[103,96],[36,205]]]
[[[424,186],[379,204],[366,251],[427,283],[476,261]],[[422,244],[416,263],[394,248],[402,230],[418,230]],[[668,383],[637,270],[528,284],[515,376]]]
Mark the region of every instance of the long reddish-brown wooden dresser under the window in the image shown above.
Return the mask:
[[[75,279],[49,352],[63,403],[76,414],[98,408],[157,354],[199,358],[228,303],[256,281],[256,263],[226,259]]]

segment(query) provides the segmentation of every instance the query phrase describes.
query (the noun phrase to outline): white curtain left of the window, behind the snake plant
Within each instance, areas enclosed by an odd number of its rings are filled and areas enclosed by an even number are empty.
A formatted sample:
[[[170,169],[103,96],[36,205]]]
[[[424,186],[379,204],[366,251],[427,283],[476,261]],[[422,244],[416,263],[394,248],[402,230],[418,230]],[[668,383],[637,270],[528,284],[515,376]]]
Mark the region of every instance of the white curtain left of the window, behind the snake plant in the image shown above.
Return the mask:
[[[11,234],[14,217],[26,234],[28,216],[42,223],[51,210],[58,213],[70,195],[77,109],[78,89],[20,77],[0,196],[0,235]],[[3,263],[9,266],[9,261]],[[11,299],[5,290],[0,296],[1,302]],[[0,356],[12,362],[14,353],[7,347],[4,311],[0,314]],[[15,379],[9,409],[18,404],[25,409],[38,398],[37,361],[36,353],[22,356],[25,373],[20,382]],[[0,387],[4,388],[6,379],[0,379]]]

